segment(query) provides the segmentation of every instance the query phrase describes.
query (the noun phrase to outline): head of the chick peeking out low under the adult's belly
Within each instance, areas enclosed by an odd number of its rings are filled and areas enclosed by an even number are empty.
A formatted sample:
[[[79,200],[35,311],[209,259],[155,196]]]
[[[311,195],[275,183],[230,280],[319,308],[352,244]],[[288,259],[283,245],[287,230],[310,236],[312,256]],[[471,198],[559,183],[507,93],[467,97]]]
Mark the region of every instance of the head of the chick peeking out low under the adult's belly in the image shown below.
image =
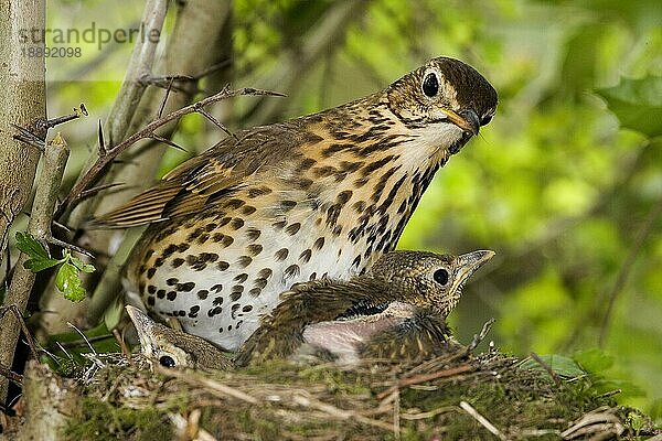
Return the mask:
[[[140,352],[163,367],[226,369],[231,362],[216,346],[195,335],[164,326],[138,308],[126,306],[140,340]]]

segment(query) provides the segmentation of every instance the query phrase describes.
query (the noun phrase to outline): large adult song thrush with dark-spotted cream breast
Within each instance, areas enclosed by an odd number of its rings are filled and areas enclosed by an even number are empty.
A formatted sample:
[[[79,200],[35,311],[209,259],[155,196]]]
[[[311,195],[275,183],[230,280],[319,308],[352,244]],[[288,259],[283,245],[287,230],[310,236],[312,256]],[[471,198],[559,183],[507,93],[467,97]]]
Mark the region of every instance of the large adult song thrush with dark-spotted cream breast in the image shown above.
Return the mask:
[[[151,224],[129,284],[234,351],[292,283],[348,279],[392,250],[437,169],[495,108],[477,71],[434,58],[363,99],[242,130],[96,225]]]

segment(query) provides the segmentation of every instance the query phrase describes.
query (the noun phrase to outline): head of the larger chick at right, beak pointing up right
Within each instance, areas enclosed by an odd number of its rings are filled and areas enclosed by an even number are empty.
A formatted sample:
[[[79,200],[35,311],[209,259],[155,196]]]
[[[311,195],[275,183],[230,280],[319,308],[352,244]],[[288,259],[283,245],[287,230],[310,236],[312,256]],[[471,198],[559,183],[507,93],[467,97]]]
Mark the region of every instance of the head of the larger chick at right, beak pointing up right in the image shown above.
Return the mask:
[[[394,301],[448,315],[458,303],[465,282],[494,251],[460,256],[426,251],[392,251],[382,256],[371,275],[389,287]]]

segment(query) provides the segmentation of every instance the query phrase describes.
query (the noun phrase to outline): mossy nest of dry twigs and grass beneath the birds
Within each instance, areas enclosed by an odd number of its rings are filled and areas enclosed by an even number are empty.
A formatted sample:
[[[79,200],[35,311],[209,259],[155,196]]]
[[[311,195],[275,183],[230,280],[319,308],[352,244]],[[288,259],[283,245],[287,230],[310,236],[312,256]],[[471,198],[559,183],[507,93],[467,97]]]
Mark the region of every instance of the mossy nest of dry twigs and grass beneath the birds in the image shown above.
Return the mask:
[[[32,367],[43,377],[40,369],[47,368]],[[523,364],[498,353],[458,351],[419,364],[382,361],[352,369],[274,362],[215,373],[151,367],[140,355],[99,355],[58,387],[75,396],[58,429],[71,440],[607,440],[654,433],[637,410],[597,394],[589,376],[559,377],[542,361]],[[32,424],[38,412],[25,417],[23,426]]]

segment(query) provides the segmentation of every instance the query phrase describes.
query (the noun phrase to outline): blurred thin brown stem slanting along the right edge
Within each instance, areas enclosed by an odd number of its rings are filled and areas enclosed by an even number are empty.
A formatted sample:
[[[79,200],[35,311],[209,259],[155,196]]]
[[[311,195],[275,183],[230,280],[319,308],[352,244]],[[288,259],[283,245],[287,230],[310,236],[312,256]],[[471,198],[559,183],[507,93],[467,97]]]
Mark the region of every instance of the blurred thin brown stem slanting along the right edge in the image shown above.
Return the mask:
[[[611,291],[609,292],[609,297],[608,297],[609,303],[607,304],[607,311],[605,312],[605,316],[602,318],[602,325],[600,326],[600,337],[598,340],[598,345],[600,347],[605,346],[605,343],[607,340],[607,333],[609,331],[609,324],[611,322],[611,314],[613,312],[613,305],[616,304],[616,299],[618,298],[618,294],[620,292],[622,292],[623,287],[626,286],[628,278],[630,277],[630,272],[632,271],[632,268],[634,267],[634,262],[637,261],[639,251],[641,251],[641,248],[643,247],[647,237],[650,236],[651,232],[653,230],[653,227],[655,226],[655,220],[658,220],[658,218],[660,217],[661,214],[662,214],[662,197],[660,197],[660,200],[658,200],[658,202],[655,203],[655,205],[652,207],[649,215],[647,216],[643,225],[637,233],[634,243],[632,244],[632,247],[630,248],[628,256],[626,256],[626,260],[623,261],[623,265],[621,266],[621,268],[618,272],[616,282],[613,283],[613,287],[611,288]]]

